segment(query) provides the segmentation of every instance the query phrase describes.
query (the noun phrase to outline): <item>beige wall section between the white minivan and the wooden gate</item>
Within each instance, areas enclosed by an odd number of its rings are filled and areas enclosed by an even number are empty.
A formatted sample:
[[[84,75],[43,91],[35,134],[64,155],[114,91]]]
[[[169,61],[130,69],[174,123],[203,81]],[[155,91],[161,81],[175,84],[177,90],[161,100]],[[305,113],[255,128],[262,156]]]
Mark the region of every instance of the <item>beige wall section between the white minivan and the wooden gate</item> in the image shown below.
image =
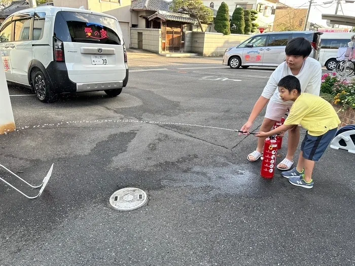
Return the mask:
[[[161,53],[161,29],[131,28],[131,48],[138,49],[138,32],[143,33],[143,50]]]

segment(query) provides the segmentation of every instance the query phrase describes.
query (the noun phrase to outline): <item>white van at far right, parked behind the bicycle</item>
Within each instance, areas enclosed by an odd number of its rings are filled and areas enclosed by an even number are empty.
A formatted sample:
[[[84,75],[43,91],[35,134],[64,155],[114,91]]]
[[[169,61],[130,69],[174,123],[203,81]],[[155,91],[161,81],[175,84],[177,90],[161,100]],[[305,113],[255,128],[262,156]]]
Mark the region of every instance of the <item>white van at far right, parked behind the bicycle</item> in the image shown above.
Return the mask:
[[[324,32],[321,40],[321,52],[319,62],[328,70],[333,70],[338,61],[338,48],[347,47],[354,32]]]

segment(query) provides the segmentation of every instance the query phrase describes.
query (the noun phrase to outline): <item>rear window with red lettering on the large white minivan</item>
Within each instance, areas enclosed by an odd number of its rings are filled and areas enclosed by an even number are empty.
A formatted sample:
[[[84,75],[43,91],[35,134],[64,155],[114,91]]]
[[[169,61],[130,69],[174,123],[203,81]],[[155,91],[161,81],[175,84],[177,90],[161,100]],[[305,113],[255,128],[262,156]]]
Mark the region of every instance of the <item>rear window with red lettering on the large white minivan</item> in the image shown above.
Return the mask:
[[[118,22],[112,18],[79,12],[60,11],[54,36],[62,42],[121,45]]]

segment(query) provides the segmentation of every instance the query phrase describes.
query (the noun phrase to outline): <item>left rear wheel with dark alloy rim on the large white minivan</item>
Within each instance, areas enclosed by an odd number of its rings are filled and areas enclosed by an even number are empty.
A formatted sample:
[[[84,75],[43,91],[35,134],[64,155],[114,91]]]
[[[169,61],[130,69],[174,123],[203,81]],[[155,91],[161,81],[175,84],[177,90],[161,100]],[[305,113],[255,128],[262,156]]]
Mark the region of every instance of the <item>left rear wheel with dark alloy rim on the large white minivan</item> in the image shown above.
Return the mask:
[[[53,92],[52,84],[40,69],[31,73],[31,80],[34,93],[41,102],[50,103],[57,100],[57,94]]]

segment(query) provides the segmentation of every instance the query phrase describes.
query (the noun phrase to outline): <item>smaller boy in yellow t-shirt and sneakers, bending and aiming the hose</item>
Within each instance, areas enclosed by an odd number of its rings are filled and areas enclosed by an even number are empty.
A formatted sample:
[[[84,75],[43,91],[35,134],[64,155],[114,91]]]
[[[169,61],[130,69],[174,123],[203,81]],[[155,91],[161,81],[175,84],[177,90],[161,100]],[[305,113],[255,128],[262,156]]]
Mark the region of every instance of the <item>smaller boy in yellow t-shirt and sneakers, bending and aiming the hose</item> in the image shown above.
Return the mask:
[[[285,132],[292,127],[301,125],[307,130],[298,158],[297,167],[281,175],[290,183],[305,188],[313,187],[312,172],[314,162],[317,162],[329,143],[332,141],[340,124],[339,117],[333,106],[323,98],[301,93],[299,80],[293,75],[287,75],[278,83],[282,101],[293,101],[289,117],[285,123],[269,132],[259,132],[258,137],[268,137]]]

